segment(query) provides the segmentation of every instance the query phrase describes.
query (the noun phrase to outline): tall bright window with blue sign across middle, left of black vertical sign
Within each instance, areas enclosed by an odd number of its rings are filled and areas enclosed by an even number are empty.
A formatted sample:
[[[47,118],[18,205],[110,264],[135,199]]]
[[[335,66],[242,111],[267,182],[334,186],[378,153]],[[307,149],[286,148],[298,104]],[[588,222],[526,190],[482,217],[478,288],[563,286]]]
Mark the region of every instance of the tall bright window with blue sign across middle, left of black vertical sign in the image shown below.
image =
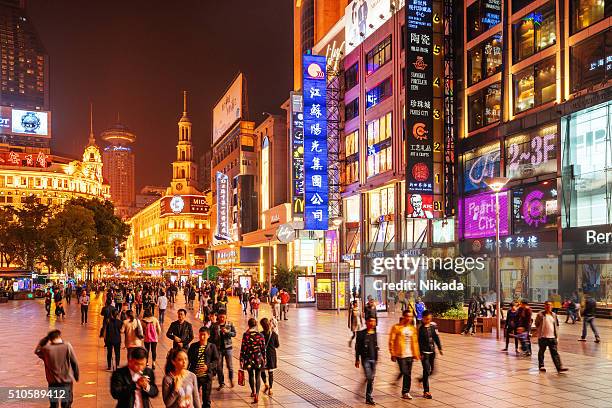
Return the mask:
[[[367,125],[368,177],[391,170],[391,112]]]

